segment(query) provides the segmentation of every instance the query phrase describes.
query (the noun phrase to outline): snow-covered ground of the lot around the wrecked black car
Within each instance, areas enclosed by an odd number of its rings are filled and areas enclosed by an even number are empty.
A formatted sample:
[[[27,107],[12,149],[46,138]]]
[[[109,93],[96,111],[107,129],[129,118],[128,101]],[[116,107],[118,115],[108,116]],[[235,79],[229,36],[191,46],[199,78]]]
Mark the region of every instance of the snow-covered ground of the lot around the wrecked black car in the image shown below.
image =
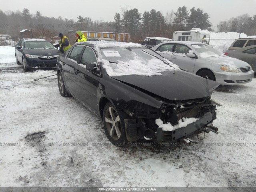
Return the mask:
[[[256,186],[255,78],[214,91],[219,134],[176,150],[120,148],[100,118],[60,96],[56,76],[34,81],[56,72],[1,60],[0,186]]]

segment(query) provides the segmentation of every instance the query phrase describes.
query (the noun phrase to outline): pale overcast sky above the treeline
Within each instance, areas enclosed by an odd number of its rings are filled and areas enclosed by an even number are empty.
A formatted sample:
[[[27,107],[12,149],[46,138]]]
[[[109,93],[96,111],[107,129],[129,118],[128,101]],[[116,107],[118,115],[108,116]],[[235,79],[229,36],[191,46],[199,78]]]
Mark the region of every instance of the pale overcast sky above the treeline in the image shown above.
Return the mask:
[[[213,26],[222,20],[248,13],[256,14],[256,0],[0,0],[0,9],[20,10],[28,8],[30,14],[40,11],[42,16],[72,18],[79,15],[91,17],[92,20],[113,21],[116,12],[121,13],[121,7],[137,8],[140,13],[156,9],[163,15],[169,10],[176,11],[178,7],[186,6],[201,8],[210,14]]]

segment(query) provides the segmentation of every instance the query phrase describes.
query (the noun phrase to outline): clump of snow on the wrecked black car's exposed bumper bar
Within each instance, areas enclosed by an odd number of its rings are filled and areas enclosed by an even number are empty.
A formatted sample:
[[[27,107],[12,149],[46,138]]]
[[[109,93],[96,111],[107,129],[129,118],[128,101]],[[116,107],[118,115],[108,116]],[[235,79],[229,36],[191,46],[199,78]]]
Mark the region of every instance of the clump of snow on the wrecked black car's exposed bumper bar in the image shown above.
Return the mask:
[[[172,126],[169,122],[167,124],[163,124],[161,119],[156,119],[156,124],[159,128],[162,128],[163,131],[173,131],[181,127],[186,127],[187,125],[194,123],[198,120],[198,118],[182,118],[178,121],[178,124]]]

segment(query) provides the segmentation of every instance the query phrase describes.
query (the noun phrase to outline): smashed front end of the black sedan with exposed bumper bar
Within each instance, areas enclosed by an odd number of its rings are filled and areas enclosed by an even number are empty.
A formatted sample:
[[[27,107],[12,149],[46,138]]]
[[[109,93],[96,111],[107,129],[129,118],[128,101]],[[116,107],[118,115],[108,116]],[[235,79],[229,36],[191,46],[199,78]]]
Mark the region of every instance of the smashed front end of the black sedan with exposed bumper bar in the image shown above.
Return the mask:
[[[125,119],[126,137],[130,142],[144,138],[157,143],[176,143],[200,132],[218,133],[212,122],[216,119],[216,106],[219,104],[210,98],[167,100],[160,108],[130,101],[123,108],[129,115]]]

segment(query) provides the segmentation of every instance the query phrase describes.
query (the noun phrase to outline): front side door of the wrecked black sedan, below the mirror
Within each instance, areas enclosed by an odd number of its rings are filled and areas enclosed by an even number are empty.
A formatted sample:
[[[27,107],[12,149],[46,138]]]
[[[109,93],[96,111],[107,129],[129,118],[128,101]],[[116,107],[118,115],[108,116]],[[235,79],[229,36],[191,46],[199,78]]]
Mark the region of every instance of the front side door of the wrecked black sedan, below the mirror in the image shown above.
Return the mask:
[[[86,69],[86,64],[88,63],[96,63],[98,66],[96,54],[90,47],[84,49],[80,64],[76,66],[76,83],[80,86],[77,97],[91,110],[97,112],[97,89],[100,80],[100,69],[97,67],[96,70],[89,71]]]

